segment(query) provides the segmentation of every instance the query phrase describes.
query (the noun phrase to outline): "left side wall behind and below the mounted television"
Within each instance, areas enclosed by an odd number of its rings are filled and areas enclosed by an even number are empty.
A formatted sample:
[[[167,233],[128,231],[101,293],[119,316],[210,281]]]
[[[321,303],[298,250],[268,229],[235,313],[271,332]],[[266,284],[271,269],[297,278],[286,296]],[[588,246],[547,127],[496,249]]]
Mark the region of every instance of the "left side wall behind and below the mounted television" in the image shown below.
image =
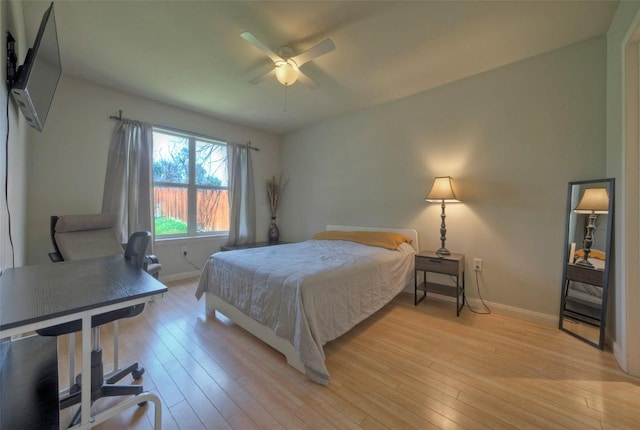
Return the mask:
[[[20,2],[0,2],[0,68],[2,90],[0,90],[0,272],[12,266],[22,266],[26,254],[26,212],[27,212],[27,125],[18,114],[17,105],[9,100],[6,82],[5,59],[7,58],[6,35],[10,31],[16,40],[18,65],[24,62],[27,53],[22,4]],[[5,111],[7,109],[7,111]],[[8,119],[8,120],[7,120]],[[8,133],[8,142],[6,139]],[[5,147],[7,142],[7,147]],[[8,153],[8,163],[7,163]],[[8,168],[6,168],[8,166]],[[5,200],[5,178],[8,184],[8,198]],[[11,229],[9,230],[9,225]],[[9,234],[11,233],[11,234]]]

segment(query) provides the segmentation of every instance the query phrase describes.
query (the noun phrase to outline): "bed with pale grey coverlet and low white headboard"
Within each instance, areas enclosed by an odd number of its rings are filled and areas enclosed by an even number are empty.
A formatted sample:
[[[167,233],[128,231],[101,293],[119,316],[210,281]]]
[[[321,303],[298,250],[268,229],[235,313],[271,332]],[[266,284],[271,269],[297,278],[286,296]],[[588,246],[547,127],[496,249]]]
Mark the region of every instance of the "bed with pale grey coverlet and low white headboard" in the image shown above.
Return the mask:
[[[322,385],[329,383],[324,344],[412,287],[418,249],[411,229],[329,225],[329,232],[386,232],[408,241],[390,250],[325,240],[322,233],[299,243],[219,252],[207,260],[196,290],[207,311],[222,313]]]

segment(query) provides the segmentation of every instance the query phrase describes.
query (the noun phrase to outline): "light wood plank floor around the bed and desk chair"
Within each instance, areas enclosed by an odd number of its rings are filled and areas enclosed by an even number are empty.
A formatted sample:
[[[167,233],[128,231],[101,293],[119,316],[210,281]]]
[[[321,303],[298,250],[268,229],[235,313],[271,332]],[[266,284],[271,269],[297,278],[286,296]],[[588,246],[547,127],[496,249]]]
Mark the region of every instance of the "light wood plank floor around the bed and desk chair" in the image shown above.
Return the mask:
[[[120,324],[121,364],[146,368],[165,430],[640,428],[640,380],[610,352],[556,328],[468,309],[456,318],[451,303],[414,307],[401,294],[325,345],[331,380],[323,387],[224,317],[206,315],[195,283],[169,283],[163,299]],[[110,336],[103,329],[107,363]],[[99,428],[151,429],[152,418],[149,404]]]

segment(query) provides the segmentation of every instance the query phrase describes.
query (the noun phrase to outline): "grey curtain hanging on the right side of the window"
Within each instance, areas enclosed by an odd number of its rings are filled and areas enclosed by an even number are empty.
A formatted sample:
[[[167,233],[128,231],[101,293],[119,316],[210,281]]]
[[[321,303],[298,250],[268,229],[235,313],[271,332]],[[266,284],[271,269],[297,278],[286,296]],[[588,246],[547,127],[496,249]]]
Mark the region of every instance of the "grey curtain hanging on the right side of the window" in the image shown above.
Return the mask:
[[[227,246],[256,241],[256,195],[251,147],[230,143],[229,162],[229,239]]]

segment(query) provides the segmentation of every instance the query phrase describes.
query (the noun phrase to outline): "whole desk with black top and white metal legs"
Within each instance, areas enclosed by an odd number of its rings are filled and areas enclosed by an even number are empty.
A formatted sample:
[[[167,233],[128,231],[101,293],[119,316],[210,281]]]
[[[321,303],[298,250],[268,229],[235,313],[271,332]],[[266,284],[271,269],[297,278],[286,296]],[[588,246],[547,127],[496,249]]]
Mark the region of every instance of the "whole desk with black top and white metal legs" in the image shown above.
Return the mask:
[[[80,319],[82,374],[91,375],[91,317],[145,303],[166,291],[120,255],[8,269],[0,276],[0,338]],[[90,387],[90,377],[83,377],[82,420],[74,428],[91,428],[146,400],[155,403],[159,427],[160,401],[150,393],[124,400],[90,422]]]

